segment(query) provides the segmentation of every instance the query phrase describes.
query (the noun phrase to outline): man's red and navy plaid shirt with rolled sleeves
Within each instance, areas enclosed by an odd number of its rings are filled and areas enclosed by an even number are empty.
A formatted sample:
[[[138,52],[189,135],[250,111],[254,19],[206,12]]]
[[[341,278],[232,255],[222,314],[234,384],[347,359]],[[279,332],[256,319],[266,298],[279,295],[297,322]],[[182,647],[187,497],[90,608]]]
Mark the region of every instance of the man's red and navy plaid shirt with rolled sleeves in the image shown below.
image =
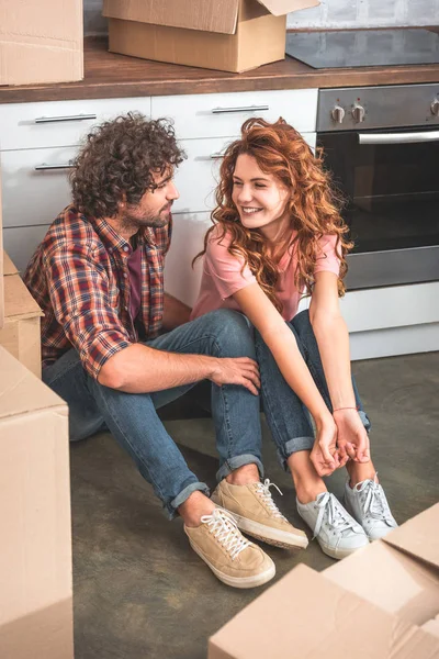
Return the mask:
[[[164,312],[164,265],[171,223],[139,232],[142,317],[146,337],[160,331]],[[24,275],[44,312],[43,368],[74,346],[86,370],[98,378],[106,359],[138,340],[130,314],[133,253],[104,220],[86,217],[67,206],[50,225]]]

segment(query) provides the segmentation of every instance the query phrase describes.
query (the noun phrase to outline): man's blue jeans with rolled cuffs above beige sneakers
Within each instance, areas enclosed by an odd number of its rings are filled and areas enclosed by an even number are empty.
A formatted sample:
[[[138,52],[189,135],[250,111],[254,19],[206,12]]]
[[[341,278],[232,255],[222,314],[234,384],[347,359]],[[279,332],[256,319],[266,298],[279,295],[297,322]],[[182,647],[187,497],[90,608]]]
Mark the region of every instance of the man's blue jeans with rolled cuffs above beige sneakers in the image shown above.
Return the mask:
[[[146,345],[169,353],[256,358],[251,326],[243,314],[230,310],[209,313]],[[209,494],[156,412],[193,384],[150,394],[124,393],[91,378],[75,349],[47,366],[43,380],[69,405],[70,440],[110,429],[153,485],[169,518],[195,490]],[[262,477],[259,396],[245,387],[212,384],[212,416],[219,454],[217,480],[248,463],[257,465]]]

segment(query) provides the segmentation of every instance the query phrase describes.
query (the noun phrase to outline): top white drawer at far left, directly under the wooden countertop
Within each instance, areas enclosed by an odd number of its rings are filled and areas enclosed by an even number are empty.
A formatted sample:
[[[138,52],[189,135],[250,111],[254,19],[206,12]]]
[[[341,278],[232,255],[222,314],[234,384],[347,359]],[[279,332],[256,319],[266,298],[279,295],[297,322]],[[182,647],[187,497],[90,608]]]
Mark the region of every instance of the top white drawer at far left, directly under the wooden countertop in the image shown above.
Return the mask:
[[[0,105],[0,149],[77,145],[93,125],[130,111],[150,116],[150,98]]]

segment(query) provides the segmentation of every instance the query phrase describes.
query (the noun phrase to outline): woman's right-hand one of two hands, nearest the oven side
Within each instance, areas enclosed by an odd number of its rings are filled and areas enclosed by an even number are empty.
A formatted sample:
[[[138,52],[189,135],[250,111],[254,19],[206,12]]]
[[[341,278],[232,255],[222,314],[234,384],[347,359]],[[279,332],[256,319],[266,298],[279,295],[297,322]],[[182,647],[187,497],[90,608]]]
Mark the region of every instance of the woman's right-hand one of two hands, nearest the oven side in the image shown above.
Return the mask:
[[[333,416],[337,426],[340,462],[345,465],[349,458],[356,462],[369,462],[369,435],[357,410],[339,410],[334,412]]]

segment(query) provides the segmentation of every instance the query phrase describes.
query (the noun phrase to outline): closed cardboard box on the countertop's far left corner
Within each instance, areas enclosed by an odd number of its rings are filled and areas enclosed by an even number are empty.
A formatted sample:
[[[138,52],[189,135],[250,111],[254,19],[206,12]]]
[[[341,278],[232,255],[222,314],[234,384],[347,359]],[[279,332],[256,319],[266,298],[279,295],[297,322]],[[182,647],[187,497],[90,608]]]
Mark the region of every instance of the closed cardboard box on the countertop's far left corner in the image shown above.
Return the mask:
[[[0,0],[0,85],[83,78],[82,0]]]

